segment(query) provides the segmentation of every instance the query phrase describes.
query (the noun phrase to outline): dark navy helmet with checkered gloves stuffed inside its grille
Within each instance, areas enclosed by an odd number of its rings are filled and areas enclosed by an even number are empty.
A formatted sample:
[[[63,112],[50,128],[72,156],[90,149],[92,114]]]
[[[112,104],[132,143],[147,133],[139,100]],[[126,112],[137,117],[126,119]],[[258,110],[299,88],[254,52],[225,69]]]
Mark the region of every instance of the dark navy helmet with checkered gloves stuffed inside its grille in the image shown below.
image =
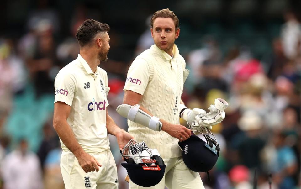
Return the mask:
[[[121,153],[127,162],[121,165],[135,184],[150,187],[162,180],[165,172],[164,161],[159,155],[153,155],[145,142],[139,143],[131,139]]]

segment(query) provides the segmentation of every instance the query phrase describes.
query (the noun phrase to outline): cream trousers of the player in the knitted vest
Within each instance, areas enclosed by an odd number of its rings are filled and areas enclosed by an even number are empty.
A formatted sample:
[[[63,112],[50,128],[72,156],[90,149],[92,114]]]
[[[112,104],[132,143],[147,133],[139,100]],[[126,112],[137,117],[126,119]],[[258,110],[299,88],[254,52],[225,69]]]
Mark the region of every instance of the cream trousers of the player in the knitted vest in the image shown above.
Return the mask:
[[[166,165],[162,180],[155,186],[142,187],[129,182],[130,189],[205,189],[200,174],[185,165],[182,156],[175,158],[162,158]]]

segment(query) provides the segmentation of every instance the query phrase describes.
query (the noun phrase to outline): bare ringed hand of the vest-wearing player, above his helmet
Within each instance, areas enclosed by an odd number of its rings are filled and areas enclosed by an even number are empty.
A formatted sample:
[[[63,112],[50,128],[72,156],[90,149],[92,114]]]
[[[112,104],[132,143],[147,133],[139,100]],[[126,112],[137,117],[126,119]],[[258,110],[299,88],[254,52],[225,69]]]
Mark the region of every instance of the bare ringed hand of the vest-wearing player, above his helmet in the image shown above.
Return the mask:
[[[187,140],[191,135],[190,130],[184,127],[183,125],[167,123],[167,124],[163,124],[161,130],[165,131],[170,136],[179,139],[180,142]]]

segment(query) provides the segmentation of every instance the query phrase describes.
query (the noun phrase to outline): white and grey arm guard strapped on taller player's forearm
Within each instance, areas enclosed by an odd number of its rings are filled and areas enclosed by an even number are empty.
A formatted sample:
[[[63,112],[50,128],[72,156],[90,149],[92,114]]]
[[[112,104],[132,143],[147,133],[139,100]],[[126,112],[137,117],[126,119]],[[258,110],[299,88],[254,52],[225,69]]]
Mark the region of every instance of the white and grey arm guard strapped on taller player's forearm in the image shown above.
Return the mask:
[[[151,117],[139,108],[139,104],[136,104],[134,106],[121,104],[117,107],[116,111],[122,117],[128,118],[132,122],[144,125],[154,131],[161,131],[162,123],[159,121],[159,118],[155,116]]]

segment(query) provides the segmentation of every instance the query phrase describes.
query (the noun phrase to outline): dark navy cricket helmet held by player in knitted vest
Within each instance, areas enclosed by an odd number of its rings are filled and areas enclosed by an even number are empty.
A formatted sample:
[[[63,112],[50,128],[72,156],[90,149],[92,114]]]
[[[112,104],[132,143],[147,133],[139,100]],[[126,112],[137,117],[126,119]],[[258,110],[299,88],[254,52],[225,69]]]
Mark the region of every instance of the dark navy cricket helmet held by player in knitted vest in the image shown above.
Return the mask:
[[[196,135],[191,135],[187,140],[179,142],[179,146],[183,150],[183,161],[192,171],[209,174],[208,171],[213,168],[219,157],[219,144],[206,127],[189,126],[188,129],[196,134],[202,134],[201,137],[204,140]]]

